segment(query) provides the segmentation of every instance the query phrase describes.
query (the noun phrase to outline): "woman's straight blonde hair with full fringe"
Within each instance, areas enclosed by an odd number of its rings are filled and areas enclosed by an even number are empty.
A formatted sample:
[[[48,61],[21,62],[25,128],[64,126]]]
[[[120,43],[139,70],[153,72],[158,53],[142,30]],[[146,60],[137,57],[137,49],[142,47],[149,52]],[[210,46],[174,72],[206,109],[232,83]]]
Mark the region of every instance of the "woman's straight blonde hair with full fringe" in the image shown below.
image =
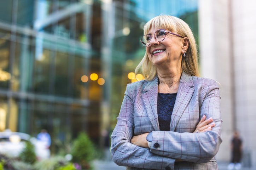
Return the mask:
[[[196,40],[187,23],[177,17],[159,15],[145,24],[144,35],[149,32],[152,26],[159,29],[167,29],[188,38],[190,45],[186,51],[186,57],[182,57],[181,68],[188,75],[199,76]],[[144,57],[135,69],[135,74],[139,72],[141,72],[146,80],[152,80],[157,74],[157,69],[150,62],[147,52],[145,52]]]

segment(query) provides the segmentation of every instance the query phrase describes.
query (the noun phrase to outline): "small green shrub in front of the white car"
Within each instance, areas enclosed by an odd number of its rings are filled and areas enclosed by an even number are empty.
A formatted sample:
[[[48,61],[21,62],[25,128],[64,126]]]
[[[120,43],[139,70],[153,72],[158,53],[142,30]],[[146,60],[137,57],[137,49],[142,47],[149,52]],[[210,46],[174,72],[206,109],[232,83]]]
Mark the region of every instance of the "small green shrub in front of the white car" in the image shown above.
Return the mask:
[[[23,151],[19,154],[19,159],[23,162],[33,164],[36,162],[35,146],[27,141]]]

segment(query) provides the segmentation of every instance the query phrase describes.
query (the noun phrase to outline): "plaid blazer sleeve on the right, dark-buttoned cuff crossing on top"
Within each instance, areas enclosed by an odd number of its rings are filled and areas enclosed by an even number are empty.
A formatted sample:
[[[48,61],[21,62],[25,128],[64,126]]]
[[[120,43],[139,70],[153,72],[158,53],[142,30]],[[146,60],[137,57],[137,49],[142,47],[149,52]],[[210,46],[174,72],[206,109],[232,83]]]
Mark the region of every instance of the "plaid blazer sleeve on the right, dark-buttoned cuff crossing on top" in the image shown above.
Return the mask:
[[[215,122],[215,127],[211,131],[203,133],[153,131],[150,152],[189,162],[209,162],[216,155],[222,142],[219,88],[214,80],[210,81],[200,107],[200,118],[204,114],[207,118],[212,117]],[[158,144],[154,145],[156,143]]]

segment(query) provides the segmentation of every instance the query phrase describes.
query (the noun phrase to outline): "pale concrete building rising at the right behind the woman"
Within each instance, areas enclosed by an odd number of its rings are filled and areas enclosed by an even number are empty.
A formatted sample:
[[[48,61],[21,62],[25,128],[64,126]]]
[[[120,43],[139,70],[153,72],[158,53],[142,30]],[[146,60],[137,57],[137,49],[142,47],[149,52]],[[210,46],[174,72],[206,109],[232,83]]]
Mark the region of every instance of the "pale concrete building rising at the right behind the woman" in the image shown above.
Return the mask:
[[[243,139],[243,164],[256,167],[256,1],[199,0],[201,76],[221,85],[222,138],[217,159],[231,159],[234,130]]]

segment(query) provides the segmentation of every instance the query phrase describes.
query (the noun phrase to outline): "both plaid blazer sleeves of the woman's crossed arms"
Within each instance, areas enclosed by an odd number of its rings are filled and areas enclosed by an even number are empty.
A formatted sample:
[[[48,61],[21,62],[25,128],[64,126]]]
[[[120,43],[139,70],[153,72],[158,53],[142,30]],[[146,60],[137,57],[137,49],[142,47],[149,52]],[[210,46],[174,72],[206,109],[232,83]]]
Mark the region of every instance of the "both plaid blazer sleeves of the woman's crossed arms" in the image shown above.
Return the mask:
[[[111,136],[111,153],[117,165],[144,169],[174,169],[176,160],[206,163],[213,158],[221,143],[221,116],[219,88],[211,81],[200,107],[200,118],[207,113],[215,126],[204,133],[179,133],[172,131],[152,131],[151,148],[131,143],[134,136],[132,90],[127,85],[126,93],[117,118],[117,125]],[[155,148],[154,143],[159,147]]]

